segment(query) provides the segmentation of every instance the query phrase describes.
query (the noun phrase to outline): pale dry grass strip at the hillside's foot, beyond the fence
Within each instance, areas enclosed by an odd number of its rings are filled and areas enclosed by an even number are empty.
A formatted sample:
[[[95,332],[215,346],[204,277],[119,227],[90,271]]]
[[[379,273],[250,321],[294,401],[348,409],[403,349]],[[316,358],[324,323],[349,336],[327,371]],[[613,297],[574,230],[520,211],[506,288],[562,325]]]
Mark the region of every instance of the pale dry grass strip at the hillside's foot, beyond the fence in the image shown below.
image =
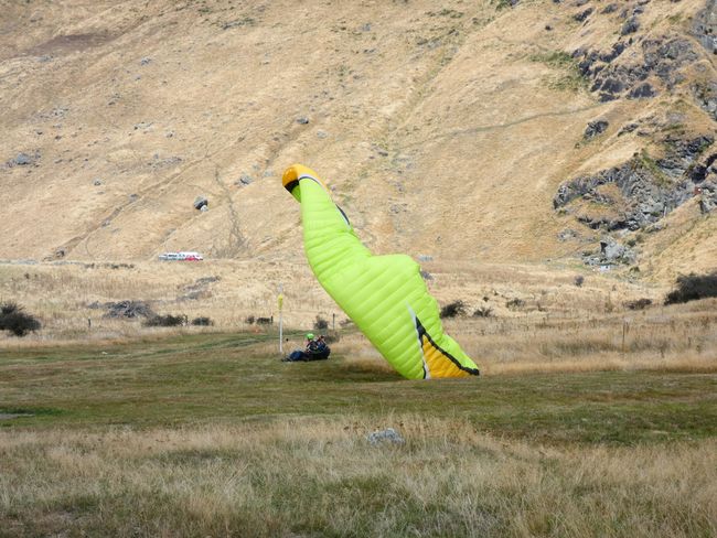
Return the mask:
[[[424,266],[434,276],[428,286],[440,304],[461,300],[467,312],[479,306],[490,308],[497,319],[543,318],[546,313],[586,319],[608,310],[622,311],[623,302],[642,297],[662,302],[661,294],[667,291],[667,288],[663,290],[597,275],[587,276],[585,284],[578,288],[575,286],[576,271],[560,267],[475,265],[454,260],[429,261]],[[257,279],[257,275],[261,278]],[[287,275],[291,275],[291,282]],[[250,326],[245,322],[248,316],[274,316],[278,321],[279,283],[285,284],[286,326],[310,330],[317,315],[330,323],[329,329],[334,323],[334,314],[336,327],[345,320],[303,260],[298,265],[146,261],[117,265],[117,269],[88,263],[0,263],[0,299],[25,305],[42,321],[43,330],[26,336],[35,342],[141,336],[145,330],[139,320],[103,318],[104,303],[125,300],[146,301],[157,312],[185,314],[190,320],[208,316],[218,331],[248,330]],[[525,308],[509,309],[506,303],[514,299],[524,301]],[[99,308],[90,308],[95,304]],[[0,346],[12,341],[0,335]]]

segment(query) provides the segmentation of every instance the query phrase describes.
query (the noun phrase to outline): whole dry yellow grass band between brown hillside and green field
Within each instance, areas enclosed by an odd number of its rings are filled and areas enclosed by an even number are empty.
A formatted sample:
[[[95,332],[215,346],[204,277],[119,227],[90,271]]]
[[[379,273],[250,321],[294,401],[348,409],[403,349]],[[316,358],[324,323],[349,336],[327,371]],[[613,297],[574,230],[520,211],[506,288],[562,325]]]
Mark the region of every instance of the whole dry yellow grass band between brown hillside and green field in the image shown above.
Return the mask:
[[[446,329],[489,375],[536,370],[711,370],[717,359],[715,300],[661,306],[666,288],[549,266],[472,265],[428,261],[428,288],[441,304],[462,300],[469,318]],[[360,368],[385,368],[368,342],[350,327],[340,309],[306,266],[212,261],[137,262],[133,267],[42,263],[0,265],[0,298],[23,304],[44,329],[25,338],[0,335],[0,346],[75,345],[83,341],[156,338],[182,332],[261,331],[249,315],[274,316],[277,289],[285,289],[285,329],[309,330],[321,316],[342,334],[334,349]],[[255,275],[263,278],[255,279]],[[585,276],[578,287],[576,276]],[[203,278],[216,281],[202,284]],[[290,278],[288,278],[290,277]],[[265,283],[267,279],[270,283]],[[186,299],[188,290],[200,293]],[[159,313],[208,316],[213,327],[148,329],[139,320],[107,320],[92,303],[146,300]],[[651,299],[646,310],[629,301]],[[511,305],[518,301],[518,304]],[[488,308],[490,318],[472,318]],[[92,319],[92,327],[87,320]],[[287,342],[287,349],[300,343]],[[276,353],[275,349],[267,349]],[[373,364],[373,366],[372,366]]]

